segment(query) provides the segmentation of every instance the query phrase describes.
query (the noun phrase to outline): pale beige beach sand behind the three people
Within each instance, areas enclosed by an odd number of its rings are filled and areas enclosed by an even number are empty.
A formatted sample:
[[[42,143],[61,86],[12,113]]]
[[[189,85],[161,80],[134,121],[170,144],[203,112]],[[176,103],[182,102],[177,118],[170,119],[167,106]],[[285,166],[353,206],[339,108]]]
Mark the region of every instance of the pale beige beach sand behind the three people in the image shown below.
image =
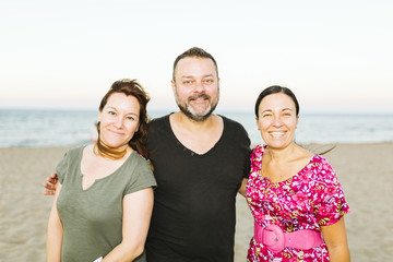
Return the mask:
[[[308,145],[319,153],[330,145]],[[67,147],[0,148],[0,261],[45,261],[52,196],[43,182]],[[338,144],[324,155],[337,171],[352,210],[345,216],[352,261],[390,261],[393,255],[393,143]],[[253,221],[237,199],[235,261],[246,261]]]

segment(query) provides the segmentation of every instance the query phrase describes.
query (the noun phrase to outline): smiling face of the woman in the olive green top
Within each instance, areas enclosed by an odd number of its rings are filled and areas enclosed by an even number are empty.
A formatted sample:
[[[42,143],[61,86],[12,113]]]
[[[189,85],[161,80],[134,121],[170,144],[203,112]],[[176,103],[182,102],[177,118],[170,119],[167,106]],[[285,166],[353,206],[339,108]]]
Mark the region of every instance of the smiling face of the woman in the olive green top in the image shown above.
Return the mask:
[[[138,131],[140,104],[134,96],[114,93],[98,115],[99,139],[109,147],[119,148]]]

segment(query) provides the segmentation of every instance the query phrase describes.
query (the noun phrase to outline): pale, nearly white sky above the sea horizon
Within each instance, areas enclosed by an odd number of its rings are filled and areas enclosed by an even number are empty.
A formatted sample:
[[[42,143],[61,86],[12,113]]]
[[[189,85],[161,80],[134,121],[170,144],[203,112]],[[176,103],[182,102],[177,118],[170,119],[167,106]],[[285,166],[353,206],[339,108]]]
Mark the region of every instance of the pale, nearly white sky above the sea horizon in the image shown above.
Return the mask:
[[[0,108],[97,108],[136,79],[174,108],[175,58],[218,63],[221,109],[252,110],[273,84],[306,111],[393,114],[393,1],[2,0]]]

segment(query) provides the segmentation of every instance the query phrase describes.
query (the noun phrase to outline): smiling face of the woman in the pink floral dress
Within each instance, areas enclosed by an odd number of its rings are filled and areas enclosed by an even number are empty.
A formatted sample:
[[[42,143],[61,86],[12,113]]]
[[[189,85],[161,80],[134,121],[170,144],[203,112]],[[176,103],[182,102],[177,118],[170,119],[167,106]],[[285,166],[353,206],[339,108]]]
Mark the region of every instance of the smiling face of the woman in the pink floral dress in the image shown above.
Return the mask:
[[[288,95],[275,93],[261,100],[257,126],[271,148],[286,148],[291,144],[297,123],[295,103]]]

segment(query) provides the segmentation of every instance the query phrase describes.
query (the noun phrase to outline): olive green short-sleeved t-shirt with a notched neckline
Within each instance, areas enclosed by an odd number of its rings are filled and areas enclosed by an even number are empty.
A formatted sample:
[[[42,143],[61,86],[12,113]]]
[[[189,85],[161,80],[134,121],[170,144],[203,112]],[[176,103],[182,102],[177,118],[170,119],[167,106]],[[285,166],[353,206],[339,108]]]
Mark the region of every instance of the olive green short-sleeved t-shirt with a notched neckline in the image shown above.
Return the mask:
[[[63,225],[62,262],[93,262],[122,240],[122,199],[155,187],[150,162],[132,152],[111,175],[82,189],[81,159],[84,146],[69,150],[56,171],[62,184],[57,209]],[[141,255],[138,262],[146,261]]]

